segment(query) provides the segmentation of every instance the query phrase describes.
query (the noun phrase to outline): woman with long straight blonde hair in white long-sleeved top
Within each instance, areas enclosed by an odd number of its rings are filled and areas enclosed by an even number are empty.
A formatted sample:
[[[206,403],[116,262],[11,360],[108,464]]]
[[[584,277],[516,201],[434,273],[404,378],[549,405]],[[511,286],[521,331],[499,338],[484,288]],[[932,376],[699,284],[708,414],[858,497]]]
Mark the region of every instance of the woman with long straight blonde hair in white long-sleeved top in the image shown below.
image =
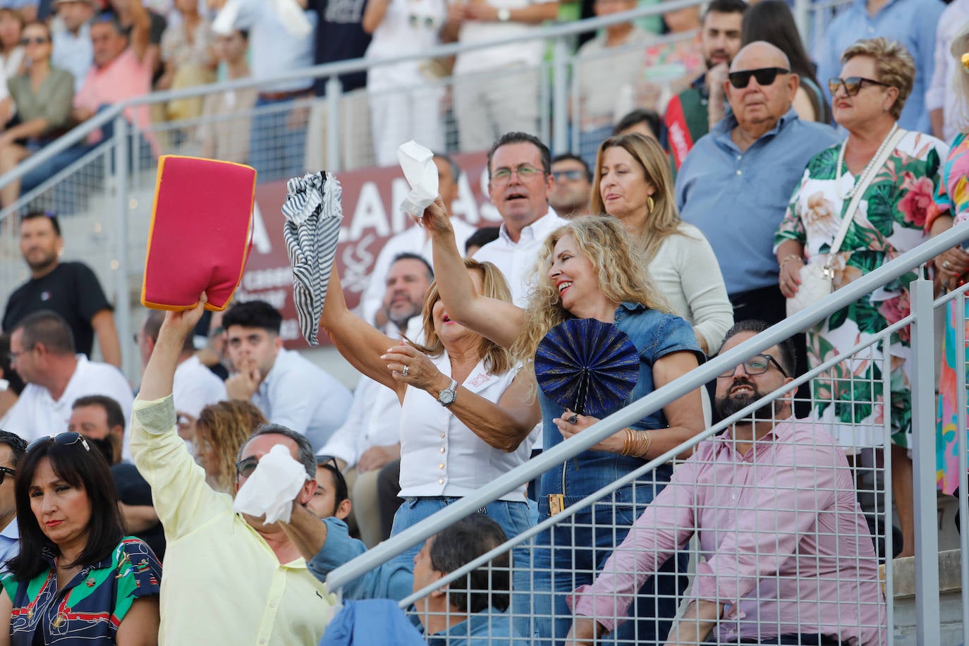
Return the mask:
[[[590,211],[611,215],[633,235],[672,311],[693,325],[703,353],[716,352],[734,324],[734,308],[710,243],[679,219],[660,144],[639,134],[606,139],[592,189]]]

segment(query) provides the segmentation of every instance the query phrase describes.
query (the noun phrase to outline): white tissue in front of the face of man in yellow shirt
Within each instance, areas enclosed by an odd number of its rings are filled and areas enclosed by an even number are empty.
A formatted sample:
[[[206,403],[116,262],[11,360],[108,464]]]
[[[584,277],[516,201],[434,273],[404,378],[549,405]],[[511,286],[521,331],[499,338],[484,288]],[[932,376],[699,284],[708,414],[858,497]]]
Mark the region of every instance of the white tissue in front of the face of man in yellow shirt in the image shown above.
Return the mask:
[[[307,479],[306,469],[293,459],[289,448],[273,446],[239,487],[233,510],[257,517],[266,514],[266,523],[288,523],[293,500]]]

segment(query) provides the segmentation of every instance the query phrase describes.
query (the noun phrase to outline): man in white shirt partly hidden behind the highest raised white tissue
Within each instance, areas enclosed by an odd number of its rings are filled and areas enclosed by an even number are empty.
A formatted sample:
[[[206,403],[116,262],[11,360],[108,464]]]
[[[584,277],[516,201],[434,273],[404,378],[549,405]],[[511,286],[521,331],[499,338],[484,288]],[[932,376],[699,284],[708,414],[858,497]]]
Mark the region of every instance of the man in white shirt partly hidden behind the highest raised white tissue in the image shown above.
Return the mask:
[[[478,231],[468,223],[453,217],[451,206],[457,198],[457,181],[461,177],[461,168],[448,155],[434,153],[434,166],[437,167],[438,193],[444,201],[444,207],[452,218],[454,239],[460,249],[472,233]],[[387,286],[384,283],[389,276],[391,264],[400,254],[411,253],[420,255],[428,264],[433,265],[430,236],[422,227],[414,226],[393,235],[381,249],[377,261],[370,271],[370,283],[360,296],[360,316],[377,327],[383,327],[387,322],[385,314],[384,293]]]

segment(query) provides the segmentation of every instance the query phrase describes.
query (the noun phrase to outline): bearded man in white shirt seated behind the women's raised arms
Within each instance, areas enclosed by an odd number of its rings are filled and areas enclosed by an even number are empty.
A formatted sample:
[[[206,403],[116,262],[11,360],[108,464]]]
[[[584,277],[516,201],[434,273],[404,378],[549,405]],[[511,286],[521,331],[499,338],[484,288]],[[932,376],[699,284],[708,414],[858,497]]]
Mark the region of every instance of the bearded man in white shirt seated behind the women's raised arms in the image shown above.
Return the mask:
[[[391,336],[421,340],[424,296],[434,279],[430,264],[416,254],[402,254],[391,264],[383,311]],[[350,500],[360,539],[373,547],[384,536],[377,497],[377,476],[400,459],[400,400],[390,388],[360,378],[346,421],[333,432],[320,455],[332,456],[346,471]]]

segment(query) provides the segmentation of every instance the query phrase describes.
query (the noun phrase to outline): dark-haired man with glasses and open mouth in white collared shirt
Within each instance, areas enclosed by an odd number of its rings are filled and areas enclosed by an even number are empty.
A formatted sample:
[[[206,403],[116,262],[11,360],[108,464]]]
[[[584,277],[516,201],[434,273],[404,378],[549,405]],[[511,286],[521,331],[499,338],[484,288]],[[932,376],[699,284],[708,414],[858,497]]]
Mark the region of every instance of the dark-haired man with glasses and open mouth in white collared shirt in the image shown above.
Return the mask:
[[[475,260],[493,262],[505,274],[518,307],[528,306],[529,274],[548,234],[568,224],[548,205],[555,187],[551,153],[541,139],[506,133],[487,155],[487,190],[504,221],[498,239]]]

